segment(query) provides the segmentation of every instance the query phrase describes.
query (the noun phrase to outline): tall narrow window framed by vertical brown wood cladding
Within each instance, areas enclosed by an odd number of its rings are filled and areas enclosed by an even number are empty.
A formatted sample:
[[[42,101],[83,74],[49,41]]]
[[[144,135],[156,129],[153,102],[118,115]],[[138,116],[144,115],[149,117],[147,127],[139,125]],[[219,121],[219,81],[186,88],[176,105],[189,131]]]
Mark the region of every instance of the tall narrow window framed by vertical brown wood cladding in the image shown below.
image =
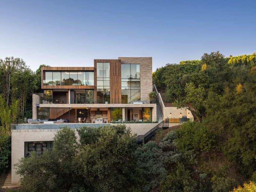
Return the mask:
[[[97,104],[110,103],[110,63],[97,63]]]

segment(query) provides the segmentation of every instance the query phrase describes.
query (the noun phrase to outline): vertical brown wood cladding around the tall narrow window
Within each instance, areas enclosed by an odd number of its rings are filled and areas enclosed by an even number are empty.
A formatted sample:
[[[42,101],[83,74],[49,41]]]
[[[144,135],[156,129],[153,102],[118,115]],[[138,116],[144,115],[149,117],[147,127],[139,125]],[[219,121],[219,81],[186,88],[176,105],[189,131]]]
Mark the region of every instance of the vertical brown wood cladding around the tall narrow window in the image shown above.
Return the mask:
[[[94,60],[94,102],[97,103],[97,63],[110,64],[110,103],[121,103],[121,60],[95,59]]]

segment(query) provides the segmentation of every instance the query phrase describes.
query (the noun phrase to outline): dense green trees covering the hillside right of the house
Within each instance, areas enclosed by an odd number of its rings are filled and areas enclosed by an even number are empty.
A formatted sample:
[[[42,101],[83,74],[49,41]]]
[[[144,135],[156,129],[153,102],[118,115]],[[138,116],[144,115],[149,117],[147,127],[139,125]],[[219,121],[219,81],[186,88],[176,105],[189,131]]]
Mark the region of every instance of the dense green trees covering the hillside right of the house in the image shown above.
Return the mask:
[[[193,149],[197,156],[217,150],[236,166],[237,178],[229,178],[226,170],[218,176],[212,173],[213,191],[241,184],[241,177],[254,177],[256,53],[224,57],[217,51],[205,53],[201,60],[167,64],[153,73],[153,83],[166,102],[189,108],[203,122],[182,126],[177,148]]]

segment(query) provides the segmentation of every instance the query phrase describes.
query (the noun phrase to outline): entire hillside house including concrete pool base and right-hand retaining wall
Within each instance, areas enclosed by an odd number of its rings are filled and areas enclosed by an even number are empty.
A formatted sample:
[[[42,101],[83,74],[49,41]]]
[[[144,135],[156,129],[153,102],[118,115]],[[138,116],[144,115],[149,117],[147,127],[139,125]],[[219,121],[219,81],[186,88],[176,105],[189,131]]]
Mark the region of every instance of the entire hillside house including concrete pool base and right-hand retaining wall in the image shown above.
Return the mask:
[[[158,121],[126,124],[142,141],[164,122],[168,128],[182,123],[183,117],[194,120],[187,109],[164,106],[161,94],[152,85],[152,57],[95,59],[93,67],[42,67],[41,77],[42,93],[32,95],[33,119],[12,125],[12,185],[20,179],[14,164],[30,151],[41,155],[52,149],[53,138],[63,126],[79,129],[118,120]],[[152,90],[157,93],[157,104],[149,101]]]

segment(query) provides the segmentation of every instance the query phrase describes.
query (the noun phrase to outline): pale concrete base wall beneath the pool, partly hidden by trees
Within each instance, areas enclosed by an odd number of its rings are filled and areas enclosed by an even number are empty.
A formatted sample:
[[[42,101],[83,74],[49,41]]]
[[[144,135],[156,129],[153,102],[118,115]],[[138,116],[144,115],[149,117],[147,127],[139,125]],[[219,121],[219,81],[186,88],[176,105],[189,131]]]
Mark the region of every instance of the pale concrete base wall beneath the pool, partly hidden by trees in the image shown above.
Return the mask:
[[[19,124],[22,125],[22,124]],[[26,125],[26,124],[24,124]],[[78,125],[78,124],[77,124]],[[91,124],[90,124],[91,125]],[[95,124],[94,124],[95,125]],[[118,124],[112,124],[118,125]],[[145,135],[150,129],[154,128],[157,123],[131,123],[125,124],[126,127],[130,127],[133,133],[137,135]],[[16,175],[14,164],[18,163],[19,159],[24,157],[25,154],[25,142],[29,141],[53,141],[55,133],[59,129],[39,129],[39,124],[33,124],[33,127],[38,129],[26,129],[26,130],[11,130],[11,183],[13,185],[18,184],[20,175]],[[52,125],[53,126],[53,125]],[[83,125],[84,126],[84,125]],[[31,125],[32,127],[32,125]],[[44,128],[49,128],[46,125]],[[76,134],[78,137],[78,134]],[[79,139],[79,138],[78,138]]]

